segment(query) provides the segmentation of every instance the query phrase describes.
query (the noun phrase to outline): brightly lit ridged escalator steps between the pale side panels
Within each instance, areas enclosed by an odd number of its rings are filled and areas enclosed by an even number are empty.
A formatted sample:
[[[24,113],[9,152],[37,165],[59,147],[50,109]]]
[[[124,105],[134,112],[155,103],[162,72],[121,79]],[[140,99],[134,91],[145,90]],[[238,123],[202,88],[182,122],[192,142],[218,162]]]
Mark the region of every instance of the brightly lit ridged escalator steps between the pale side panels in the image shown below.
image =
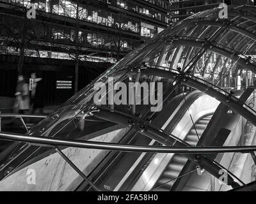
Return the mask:
[[[191,128],[188,135],[184,139],[185,142],[189,143],[189,145],[196,146],[198,143],[198,137],[204,133],[207,124],[210,122],[212,115],[207,115],[199,119],[195,123],[195,128]],[[198,136],[197,136],[198,134]],[[175,179],[179,177],[180,171],[184,168],[188,159],[180,154],[175,154],[170,163],[164,169],[162,175],[157,180],[155,186],[153,187],[153,191],[170,191],[172,188]]]

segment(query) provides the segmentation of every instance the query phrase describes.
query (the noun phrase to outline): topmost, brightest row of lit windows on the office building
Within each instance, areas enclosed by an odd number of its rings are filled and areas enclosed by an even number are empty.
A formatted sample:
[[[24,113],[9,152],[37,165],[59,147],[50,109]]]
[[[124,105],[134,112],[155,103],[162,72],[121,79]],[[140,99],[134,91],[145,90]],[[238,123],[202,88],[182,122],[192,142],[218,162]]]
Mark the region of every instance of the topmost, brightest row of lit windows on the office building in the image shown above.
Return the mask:
[[[21,4],[24,6],[29,6],[29,0],[10,0],[12,3]],[[50,0],[40,0],[36,1],[35,8],[37,10],[42,10],[46,12],[55,13],[58,15],[65,15],[67,17],[76,18],[78,14],[78,18],[80,20],[86,20],[88,22],[93,22],[96,24],[106,25],[109,27],[116,27],[119,29],[131,31],[134,33],[141,34],[141,36],[154,36],[157,34],[152,29],[147,27],[141,27],[139,21],[133,20],[131,18],[127,18],[122,13],[115,14],[104,10],[92,10],[85,8],[84,6],[78,6],[77,11],[77,4],[73,3],[72,1],[68,0],[55,0],[52,1],[53,4],[50,4]],[[142,11],[147,13],[147,11]]]

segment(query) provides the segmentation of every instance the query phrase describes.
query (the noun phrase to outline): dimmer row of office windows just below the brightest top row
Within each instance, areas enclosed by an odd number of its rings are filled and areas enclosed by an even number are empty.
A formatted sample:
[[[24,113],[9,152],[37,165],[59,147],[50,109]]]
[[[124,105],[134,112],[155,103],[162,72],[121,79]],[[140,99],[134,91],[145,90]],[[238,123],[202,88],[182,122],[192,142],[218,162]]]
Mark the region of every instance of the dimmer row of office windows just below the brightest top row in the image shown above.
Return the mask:
[[[1,22],[8,27],[8,29],[2,29],[0,31],[1,37],[10,36],[15,33],[15,36],[19,38],[20,33],[22,33],[22,27],[19,26],[20,21],[17,20],[17,18],[3,17],[1,18]],[[109,50],[110,52],[129,52],[140,45],[140,40],[124,38],[122,36],[100,34],[83,29],[79,29],[76,38],[75,28],[54,24],[38,24],[38,22],[34,21],[29,25],[27,32],[28,33],[26,35],[29,36],[29,40],[36,39],[38,41],[45,41],[54,47],[56,45],[52,43],[66,44],[75,48],[76,40],[78,40],[79,47],[81,48],[96,47]]]

